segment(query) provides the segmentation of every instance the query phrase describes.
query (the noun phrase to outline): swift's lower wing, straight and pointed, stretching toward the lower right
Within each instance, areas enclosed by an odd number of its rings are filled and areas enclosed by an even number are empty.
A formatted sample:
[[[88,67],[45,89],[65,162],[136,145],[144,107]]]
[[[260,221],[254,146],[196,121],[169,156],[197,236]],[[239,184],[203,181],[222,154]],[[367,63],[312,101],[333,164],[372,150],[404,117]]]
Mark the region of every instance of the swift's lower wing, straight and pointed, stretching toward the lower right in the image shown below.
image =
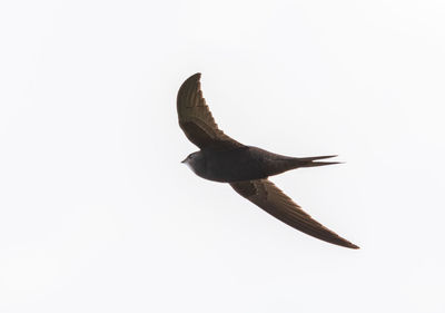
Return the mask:
[[[342,238],[313,219],[299,205],[293,202],[291,198],[286,196],[268,179],[230,183],[230,186],[243,197],[303,233],[332,244],[358,248],[355,244]]]

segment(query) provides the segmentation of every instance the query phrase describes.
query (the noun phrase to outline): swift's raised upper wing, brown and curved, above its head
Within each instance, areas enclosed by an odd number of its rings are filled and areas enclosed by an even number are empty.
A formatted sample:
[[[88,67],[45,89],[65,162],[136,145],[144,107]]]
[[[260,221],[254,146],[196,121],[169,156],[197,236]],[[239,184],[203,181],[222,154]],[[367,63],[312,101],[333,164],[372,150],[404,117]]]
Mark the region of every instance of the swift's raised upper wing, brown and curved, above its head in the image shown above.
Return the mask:
[[[177,98],[179,126],[187,138],[201,149],[229,150],[244,147],[218,128],[202,97],[200,77],[199,72],[190,76],[179,88]]]

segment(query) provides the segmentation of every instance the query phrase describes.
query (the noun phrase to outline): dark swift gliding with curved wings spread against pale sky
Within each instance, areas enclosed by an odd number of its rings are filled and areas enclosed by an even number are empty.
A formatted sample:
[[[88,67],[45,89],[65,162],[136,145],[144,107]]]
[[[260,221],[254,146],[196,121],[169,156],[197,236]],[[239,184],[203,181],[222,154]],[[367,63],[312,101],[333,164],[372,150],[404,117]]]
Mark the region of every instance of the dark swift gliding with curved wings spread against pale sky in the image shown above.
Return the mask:
[[[177,95],[179,126],[199,150],[182,160],[201,178],[228,183],[235,192],[285,224],[318,239],[353,250],[357,245],[316,222],[268,177],[284,172],[338,164],[336,155],[288,157],[240,144],[218,128],[202,97],[201,74],[187,78]]]

